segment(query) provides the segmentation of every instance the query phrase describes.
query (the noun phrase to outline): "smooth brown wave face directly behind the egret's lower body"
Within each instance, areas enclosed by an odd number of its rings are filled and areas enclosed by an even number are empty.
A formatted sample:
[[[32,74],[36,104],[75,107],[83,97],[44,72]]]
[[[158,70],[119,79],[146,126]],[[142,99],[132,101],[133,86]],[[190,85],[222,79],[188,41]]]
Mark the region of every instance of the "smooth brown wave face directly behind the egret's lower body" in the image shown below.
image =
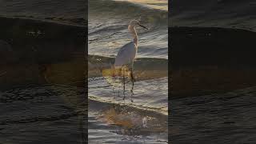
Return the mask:
[[[98,55],[88,56],[88,77],[102,77],[101,70],[111,70],[114,58]],[[134,73],[138,80],[163,78],[168,75],[168,59],[165,58],[136,58]]]

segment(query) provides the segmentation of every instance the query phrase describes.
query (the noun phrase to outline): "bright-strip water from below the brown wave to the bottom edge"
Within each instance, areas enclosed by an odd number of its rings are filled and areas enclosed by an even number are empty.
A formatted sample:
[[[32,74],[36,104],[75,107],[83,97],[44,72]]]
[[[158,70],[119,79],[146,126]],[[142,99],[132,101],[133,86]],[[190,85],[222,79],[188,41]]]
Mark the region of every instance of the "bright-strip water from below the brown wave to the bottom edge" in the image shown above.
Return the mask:
[[[168,78],[113,85],[104,77],[88,79],[89,142],[167,143]],[[114,87],[114,89],[113,89]],[[106,137],[108,135],[108,137]]]

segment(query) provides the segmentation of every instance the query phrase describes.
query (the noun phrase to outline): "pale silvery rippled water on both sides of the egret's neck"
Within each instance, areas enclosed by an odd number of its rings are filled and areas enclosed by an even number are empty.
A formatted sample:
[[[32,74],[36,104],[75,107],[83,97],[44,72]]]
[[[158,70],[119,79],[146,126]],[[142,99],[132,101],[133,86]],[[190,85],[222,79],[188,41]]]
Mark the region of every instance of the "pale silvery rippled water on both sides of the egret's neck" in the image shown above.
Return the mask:
[[[89,54],[113,56],[118,54],[121,46],[132,41],[127,24],[103,25],[89,30]],[[138,28],[138,58],[168,58],[167,27],[154,27],[147,24],[150,30]],[[166,25],[167,26],[167,25]]]

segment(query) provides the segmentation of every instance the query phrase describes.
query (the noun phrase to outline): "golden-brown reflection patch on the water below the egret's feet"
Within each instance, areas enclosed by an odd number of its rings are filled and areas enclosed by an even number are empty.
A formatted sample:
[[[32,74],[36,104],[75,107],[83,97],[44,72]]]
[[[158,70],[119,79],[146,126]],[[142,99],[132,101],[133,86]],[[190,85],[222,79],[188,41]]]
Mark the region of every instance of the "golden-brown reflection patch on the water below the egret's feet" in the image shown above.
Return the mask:
[[[119,126],[125,134],[141,135],[167,131],[166,118],[153,118],[136,110],[126,110],[118,106],[103,110],[98,119],[110,125]]]

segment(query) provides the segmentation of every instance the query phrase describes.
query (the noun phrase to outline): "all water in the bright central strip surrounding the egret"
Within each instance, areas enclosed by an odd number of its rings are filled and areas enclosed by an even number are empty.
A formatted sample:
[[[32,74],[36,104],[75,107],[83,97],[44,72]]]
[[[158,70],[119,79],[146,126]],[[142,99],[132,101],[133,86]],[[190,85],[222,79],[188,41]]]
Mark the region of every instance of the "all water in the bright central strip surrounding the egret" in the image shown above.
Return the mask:
[[[132,41],[128,24],[139,17],[149,30],[137,29],[131,102],[131,83],[124,92],[122,80],[106,73],[120,47]],[[90,0],[88,18],[89,142],[167,143],[167,1]]]

